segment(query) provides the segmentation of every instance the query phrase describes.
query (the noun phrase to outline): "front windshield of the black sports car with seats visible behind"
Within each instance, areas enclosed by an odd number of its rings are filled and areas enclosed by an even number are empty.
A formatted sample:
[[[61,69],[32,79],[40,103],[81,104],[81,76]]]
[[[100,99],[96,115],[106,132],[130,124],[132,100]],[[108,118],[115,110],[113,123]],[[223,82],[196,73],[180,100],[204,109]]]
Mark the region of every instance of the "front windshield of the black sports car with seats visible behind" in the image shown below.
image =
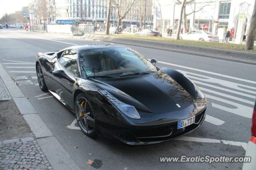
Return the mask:
[[[155,72],[156,67],[136,51],[125,47],[110,47],[80,51],[82,78],[124,76]]]

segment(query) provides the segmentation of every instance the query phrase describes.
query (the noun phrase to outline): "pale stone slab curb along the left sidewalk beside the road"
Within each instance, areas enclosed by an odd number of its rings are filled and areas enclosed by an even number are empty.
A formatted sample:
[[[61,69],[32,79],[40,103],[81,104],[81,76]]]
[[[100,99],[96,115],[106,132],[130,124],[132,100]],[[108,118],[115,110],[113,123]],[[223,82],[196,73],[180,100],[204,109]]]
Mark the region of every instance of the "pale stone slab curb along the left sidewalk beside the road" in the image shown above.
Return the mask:
[[[54,137],[50,129],[38,115],[34,107],[30,104],[28,99],[24,96],[24,94],[20,91],[18,86],[12,80],[12,78],[8,75],[2,64],[0,64],[0,77],[2,78],[6,88],[10,92],[16,106],[20,110],[20,113],[28,123],[28,126],[34,133],[36,137],[36,141],[40,145],[42,151],[48,158],[50,164],[54,169],[76,169],[80,168],[74,162],[74,160],[70,157],[68,152],[62,147],[59,141]],[[34,139],[34,138],[33,138]],[[30,139],[11,139],[7,141],[0,141],[2,143],[13,143],[13,141],[20,142],[26,141]]]

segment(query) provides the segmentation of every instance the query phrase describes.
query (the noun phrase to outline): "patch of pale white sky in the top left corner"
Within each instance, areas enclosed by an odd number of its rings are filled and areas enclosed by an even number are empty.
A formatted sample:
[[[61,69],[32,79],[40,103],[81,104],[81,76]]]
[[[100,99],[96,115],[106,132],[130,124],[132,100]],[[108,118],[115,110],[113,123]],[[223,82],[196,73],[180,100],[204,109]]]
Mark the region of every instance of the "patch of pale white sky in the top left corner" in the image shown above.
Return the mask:
[[[0,0],[0,18],[15,11],[20,11],[23,6],[28,6],[31,0]]]

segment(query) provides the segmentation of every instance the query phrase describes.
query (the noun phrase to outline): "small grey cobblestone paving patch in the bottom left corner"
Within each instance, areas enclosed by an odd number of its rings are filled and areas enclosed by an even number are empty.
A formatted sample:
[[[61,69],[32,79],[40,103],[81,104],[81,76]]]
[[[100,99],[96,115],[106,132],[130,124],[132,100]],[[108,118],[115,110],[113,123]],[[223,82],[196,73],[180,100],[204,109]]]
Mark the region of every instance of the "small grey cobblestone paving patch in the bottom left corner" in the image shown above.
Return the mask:
[[[0,141],[0,170],[52,169],[33,137]]]

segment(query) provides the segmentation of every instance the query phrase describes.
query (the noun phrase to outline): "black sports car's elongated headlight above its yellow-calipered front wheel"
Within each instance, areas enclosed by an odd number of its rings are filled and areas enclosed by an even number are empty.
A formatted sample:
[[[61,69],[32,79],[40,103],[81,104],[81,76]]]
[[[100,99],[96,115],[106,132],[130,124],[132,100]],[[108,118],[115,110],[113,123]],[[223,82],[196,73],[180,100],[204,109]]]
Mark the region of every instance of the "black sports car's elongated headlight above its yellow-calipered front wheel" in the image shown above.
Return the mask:
[[[128,104],[125,104],[121,101],[119,101],[117,98],[115,98],[112,94],[110,94],[106,90],[98,90],[100,94],[105,96],[112,104],[115,106],[117,109],[122,111],[126,116],[132,118],[132,119],[140,119],[140,115],[138,111],[133,107]]]

